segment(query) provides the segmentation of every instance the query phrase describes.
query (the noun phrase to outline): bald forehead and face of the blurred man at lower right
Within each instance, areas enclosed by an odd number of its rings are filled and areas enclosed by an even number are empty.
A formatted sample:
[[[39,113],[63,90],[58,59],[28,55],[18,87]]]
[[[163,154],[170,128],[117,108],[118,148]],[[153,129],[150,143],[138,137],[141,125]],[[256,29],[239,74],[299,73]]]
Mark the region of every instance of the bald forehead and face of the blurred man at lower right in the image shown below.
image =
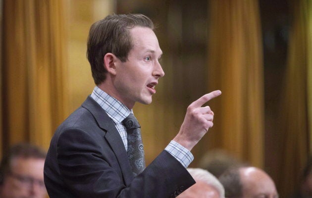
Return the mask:
[[[278,198],[273,180],[255,167],[240,169],[243,198]]]

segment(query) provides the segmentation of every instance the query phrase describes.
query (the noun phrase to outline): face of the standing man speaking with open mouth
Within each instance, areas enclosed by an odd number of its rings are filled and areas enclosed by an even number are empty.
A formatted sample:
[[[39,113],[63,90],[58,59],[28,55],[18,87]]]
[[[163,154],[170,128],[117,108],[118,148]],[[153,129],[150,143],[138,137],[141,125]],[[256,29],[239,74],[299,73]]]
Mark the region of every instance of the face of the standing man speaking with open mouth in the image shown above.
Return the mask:
[[[150,104],[156,93],[155,85],[164,72],[158,62],[162,51],[155,33],[150,28],[134,27],[130,30],[133,47],[126,62],[115,62],[113,79],[116,97],[128,108],[135,102]]]

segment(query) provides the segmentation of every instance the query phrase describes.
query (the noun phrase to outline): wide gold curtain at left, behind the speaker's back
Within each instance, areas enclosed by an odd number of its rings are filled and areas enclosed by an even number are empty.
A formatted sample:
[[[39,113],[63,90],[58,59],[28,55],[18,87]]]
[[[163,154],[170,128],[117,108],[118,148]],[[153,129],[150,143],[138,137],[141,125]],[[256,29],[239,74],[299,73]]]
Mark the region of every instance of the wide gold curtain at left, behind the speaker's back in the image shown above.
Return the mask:
[[[3,148],[48,148],[66,115],[63,0],[3,0]]]

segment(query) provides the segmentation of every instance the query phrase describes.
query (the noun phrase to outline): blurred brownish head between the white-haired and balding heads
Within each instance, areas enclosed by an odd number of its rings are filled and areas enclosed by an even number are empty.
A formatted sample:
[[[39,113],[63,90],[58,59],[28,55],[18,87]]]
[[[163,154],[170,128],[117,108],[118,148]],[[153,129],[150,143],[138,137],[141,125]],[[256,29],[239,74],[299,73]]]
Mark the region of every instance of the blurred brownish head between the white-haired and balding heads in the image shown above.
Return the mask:
[[[225,150],[212,149],[201,158],[199,167],[208,170],[216,178],[219,178],[227,169],[241,166],[241,164],[242,162]]]

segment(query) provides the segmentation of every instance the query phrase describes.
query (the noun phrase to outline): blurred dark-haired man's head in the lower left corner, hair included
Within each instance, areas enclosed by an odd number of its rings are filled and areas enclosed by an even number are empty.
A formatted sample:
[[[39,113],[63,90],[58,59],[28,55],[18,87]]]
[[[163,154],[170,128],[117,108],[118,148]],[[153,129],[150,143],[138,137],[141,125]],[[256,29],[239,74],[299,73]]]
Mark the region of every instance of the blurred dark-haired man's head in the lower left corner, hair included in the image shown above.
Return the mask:
[[[0,164],[0,198],[46,198],[46,153],[30,144],[13,146]]]

